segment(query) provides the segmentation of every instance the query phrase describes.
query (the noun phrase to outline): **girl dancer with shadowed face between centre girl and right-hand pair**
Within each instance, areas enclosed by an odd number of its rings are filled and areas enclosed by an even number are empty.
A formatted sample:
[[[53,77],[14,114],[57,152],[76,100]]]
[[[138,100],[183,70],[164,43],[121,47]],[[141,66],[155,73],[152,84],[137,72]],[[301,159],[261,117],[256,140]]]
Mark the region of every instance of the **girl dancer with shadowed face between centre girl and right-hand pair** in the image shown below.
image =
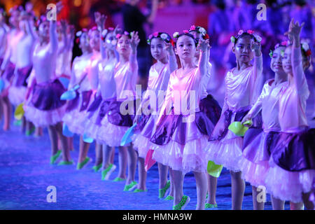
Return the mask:
[[[240,30],[231,38],[232,51],[237,59],[237,67],[225,76],[225,100],[220,120],[209,139],[209,160],[230,169],[232,178],[232,209],[241,209],[245,183],[241,179],[240,167],[243,138],[228,130],[230,123],[241,121],[257,99],[258,80],[262,75],[262,54],[260,37],[253,31]],[[254,58],[253,65],[251,60]]]

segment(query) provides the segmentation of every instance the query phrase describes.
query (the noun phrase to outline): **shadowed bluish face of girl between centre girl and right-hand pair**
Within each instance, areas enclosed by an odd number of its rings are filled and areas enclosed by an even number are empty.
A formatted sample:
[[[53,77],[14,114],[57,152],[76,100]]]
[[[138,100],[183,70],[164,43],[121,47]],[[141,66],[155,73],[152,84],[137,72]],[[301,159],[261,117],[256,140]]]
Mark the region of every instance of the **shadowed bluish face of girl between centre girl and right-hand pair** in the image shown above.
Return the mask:
[[[243,36],[237,40],[237,43],[232,48],[235,57],[239,62],[248,63],[253,59],[253,51],[251,51],[251,42],[253,39],[250,36]]]

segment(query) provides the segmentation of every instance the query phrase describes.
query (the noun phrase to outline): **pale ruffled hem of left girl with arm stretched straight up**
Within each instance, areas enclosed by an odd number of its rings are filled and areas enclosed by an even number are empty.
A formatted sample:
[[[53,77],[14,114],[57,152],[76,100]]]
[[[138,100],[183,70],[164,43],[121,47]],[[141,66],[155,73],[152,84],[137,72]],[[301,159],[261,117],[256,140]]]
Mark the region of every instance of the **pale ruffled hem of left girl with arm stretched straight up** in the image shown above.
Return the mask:
[[[45,127],[48,125],[56,125],[62,121],[66,106],[59,107],[52,111],[41,111],[32,106],[24,105],[25,118],[34,123],[36,127]]]

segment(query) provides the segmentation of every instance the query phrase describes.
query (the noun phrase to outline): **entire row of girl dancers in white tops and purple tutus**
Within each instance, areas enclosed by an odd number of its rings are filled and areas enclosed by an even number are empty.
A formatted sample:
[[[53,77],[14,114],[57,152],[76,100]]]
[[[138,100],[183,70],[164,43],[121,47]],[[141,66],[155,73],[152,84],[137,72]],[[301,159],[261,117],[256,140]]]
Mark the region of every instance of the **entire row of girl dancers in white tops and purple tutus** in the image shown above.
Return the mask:
[[[58,12],[61,7],[58,3]],[[211,166],[230,170],[232,209],[241,209],[245,181],[253,188],[253,209],[264,209],[258,200],[262,187],[271,195],[273,209],[284,209],[285,201],[291,209],[314,209],[315,133],[305,115],[309,88],[304,75],[311,52],[307,43],[300,43],[303,25],[291,20],[288,41],[270,51],[274,78],[262,91],[262,38],[253,30],[231,37],[237,66],[226,73],[221,109],[207,92],[209,58],[220,55],[211,55],[203,27],[149,36],[156,63],[147,90],[139,95],[137,32],[105,29],[106,16],[100,13],[95,13],[97,27],[76,33],[65,21],[45,16],[34,20],[22,7],[10,10],[10,25],[4,14],[1,10],[3,129],[10,128],[12,105],[22,105],[27,135],[41,136],[48,127],[51,165],[73,165],[73,137],[64,136],[66,129],[80,135],[77,169],[91,162],[86,139],[94,139],[94,171],[109,180],[118,168],[113,181],[124,181],[125,191],[146,192],[146,159],[158,162],[157,197],[173,201],[173,209],[184,209],[190,202],[183,195],[188,172],[195,176],[196,208],[220,207],[219,175],[209,172]],[[71,65],[74,41],[83,54]],[[75,92],[73,99],[61,99],[67,90]],[[228,128],[235,122],[249,127],[244,137]],[[132,143],[121,146],[130,127]],[[115,151],[118,167],[113,164]]]

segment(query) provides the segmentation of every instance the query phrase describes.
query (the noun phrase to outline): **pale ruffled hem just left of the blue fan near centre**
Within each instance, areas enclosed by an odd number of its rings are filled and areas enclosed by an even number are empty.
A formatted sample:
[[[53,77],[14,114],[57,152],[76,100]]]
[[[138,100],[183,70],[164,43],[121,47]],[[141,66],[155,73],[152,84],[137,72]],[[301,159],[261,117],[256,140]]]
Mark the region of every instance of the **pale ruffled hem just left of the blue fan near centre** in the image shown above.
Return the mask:
[[[106,114],[101,122],[102,128],[99,129],[98,138],[111,147],[120,146],[121,139],[130,127],[117,126],[109,122]]]

